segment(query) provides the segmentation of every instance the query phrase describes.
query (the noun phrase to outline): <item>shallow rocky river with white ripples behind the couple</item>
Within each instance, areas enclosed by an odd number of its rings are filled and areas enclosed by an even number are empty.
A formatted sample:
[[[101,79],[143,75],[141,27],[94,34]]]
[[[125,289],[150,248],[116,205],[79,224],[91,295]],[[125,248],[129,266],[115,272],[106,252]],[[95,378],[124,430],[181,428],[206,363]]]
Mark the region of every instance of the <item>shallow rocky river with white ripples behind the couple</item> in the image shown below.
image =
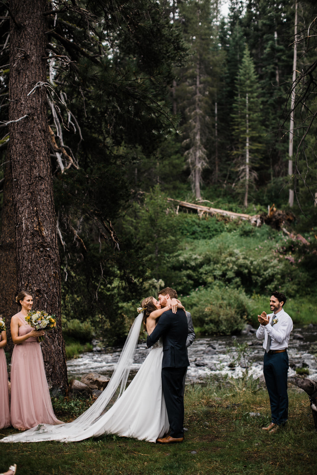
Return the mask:
[[[296,367],[307,367],[309,378],[317,379],[317,325],[294,327],[291,333],[288,357],[288,378],[296,375]],[[68,360],[69,377],[78,378],[82,374],[95,372],[111,376],[119,359],[120,347],[100,350],[98,342],[94,342],[94,351],[83,353],[79,358]],[[237,353],[238,345],[246,343],[248,346],[246,358],[240,358]],[[210,375],[225,375],[238,378],[248,367],[249,374],[254,378],[263,379],[263,342],[259,342],[255,330],[248,326],[244,334],[237,336],[211,336],[196,338],[188,348],[190,366],[187,372],[187,383],[203,382]],[[237,346],[235,346],[237,345]],[[139,370],[142,362],[149,353],[145,342],[137,346],[133,361],[131,376]],[[236,360],[239,360],[238,362]],[[236,361],[236,364],[235,364]]]

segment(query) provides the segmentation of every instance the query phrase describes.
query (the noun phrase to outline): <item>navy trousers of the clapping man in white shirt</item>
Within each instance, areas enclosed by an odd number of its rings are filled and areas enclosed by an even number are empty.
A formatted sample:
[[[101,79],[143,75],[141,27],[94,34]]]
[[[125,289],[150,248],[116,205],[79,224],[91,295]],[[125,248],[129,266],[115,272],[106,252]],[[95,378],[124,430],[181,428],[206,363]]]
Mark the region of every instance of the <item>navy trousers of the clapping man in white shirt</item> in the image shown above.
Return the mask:
[[[287,352],[264,353],[263,373],[270,398],[272,422],[281,426],[288,418]]]

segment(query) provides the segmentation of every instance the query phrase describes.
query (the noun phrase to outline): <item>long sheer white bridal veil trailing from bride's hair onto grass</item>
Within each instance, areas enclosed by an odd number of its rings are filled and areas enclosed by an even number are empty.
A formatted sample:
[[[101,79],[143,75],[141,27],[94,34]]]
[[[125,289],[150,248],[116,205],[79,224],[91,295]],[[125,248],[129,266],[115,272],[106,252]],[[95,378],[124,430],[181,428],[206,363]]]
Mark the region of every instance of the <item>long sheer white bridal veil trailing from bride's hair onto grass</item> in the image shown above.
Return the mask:
[[[107,411],[107,406],[111,398],[117,390],[119,390],[118,398],[125,390],[139,340],[142,318],[143,313],[139,314],[132,324],[108,386],[102,391],[99,398],[92,404],[92,406],[81,414],[79,418],[75,419],[73,422],[60,424],[58,426],[39,424],[25,432],[4,437],[0,442],[42,442],[45,440],[68,442],[75,439],[83,440],[88,437],[93,437],[98,433],[98,427],[100,426],[98,422],[101,422],[100,419],[102,418],[102,415]]]

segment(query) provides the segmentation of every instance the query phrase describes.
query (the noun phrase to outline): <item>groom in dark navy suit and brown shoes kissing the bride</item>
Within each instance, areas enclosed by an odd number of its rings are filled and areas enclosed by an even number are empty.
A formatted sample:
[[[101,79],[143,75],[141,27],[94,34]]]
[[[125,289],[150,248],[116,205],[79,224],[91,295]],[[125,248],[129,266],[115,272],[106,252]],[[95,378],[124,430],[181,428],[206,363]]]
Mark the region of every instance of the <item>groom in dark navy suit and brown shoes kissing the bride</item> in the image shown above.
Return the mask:
[[[167,304],[172,300],[166,295]],[[184,396],[183,379],[189,366],[186,341],[188,335],[187,316],[184,310],[178,309],[164,312],[158,320],[153,332],[147,338],[150,348],[163,338],[162,387],[170,433],[168,437],[158,438],[160,444],[172,444],[184,440]]]

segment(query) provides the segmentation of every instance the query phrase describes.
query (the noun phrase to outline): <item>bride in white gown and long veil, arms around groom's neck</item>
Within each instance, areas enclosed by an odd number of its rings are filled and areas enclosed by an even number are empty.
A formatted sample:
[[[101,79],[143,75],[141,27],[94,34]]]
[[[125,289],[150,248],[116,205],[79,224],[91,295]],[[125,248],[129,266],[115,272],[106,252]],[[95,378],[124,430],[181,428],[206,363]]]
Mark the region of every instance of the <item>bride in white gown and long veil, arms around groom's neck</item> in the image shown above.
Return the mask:
[[[168,416],[162,391],[163,346],[158,341],[142,363],[138,373],[125,390],[134,353],[139,340],[140,327],[152,333],[161,314],[172,308],[184,309],[176,299],[172,305],[161,308],[154,297],[142,301],[141,313],[131,326],[128,338],[120,354],[119,361],[109,380],[107,388],[99,398],[73,422],[51,426],[39,424],[23,433],[4,437],[0,442],[42,442],[59,440],[75,442],[103,434],[134,437],[148,442],[156,442],[168,432]],[[119,390],[115,403],[107,408],[111,398]],[[117,391],[118,392],[118,391]]]

